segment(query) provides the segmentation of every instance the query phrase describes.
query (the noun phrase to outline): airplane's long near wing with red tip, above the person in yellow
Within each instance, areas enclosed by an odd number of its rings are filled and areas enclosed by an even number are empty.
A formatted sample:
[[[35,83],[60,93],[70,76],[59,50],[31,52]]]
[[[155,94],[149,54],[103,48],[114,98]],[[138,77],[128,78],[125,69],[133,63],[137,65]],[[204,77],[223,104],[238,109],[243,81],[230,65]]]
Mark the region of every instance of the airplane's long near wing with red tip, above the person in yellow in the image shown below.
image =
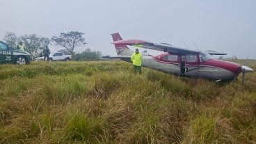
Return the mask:
[[[197,54],[198,51],[191,50],[191,49],[183,49],[180,47],[174,47],[173,45],[166,44],[166,43],[153,43],[153,42],[147,42],[144,40],[119,40],[116,42],[113,42],[114,45],[130,45],[134,47],[141,47],[145,49],[152,49],[157,51],[165,51],[170,52],[173,54]]]

